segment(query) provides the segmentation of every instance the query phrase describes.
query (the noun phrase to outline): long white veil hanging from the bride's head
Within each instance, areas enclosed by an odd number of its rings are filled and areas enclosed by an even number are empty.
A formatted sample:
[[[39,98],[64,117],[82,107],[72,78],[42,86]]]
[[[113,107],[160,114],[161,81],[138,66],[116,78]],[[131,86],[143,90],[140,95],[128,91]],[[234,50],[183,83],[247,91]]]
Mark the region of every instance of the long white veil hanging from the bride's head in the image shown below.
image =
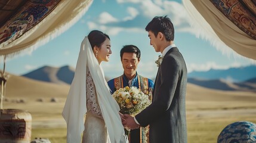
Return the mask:
[[[84,131],[84,117],[87,113],[86,71],[90,70],[95,84],[98,103],[107,128],[110,142],[125,142],[124,127],[118,114],[119,106],[110,95],[101,66],[95,58],[88,37],[81,43],[75,76],[67,95],[63,117],[67,122],[67,142],[80,143]],[[122,141],[121,141],[122,140]]]

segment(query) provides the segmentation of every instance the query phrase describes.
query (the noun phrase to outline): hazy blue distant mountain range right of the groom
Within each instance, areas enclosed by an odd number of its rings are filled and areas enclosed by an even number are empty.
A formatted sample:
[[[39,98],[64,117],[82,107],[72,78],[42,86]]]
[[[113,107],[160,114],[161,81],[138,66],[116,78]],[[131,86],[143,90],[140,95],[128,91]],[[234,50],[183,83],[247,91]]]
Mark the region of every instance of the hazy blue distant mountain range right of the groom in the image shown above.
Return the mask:
[[[192,71],[188,74],[190,78],[199,79],[225,79],[232,82],[243,82],[256,77],[256,66],[230,68],[227,70]]]

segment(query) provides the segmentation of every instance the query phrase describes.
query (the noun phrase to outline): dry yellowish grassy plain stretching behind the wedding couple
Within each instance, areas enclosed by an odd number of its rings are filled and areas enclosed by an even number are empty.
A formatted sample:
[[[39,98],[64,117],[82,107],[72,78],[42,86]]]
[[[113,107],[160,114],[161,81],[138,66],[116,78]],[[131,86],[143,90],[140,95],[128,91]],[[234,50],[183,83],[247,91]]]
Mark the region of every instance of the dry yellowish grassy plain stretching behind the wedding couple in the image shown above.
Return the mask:
[[[69,86],[20,78],[8,86],[12,88],[7,90],[4,108],[29,111],[32,115],[32,140],[37,137],[48,138],[52,143],[66,142],[66,122],[61,112]],[[51,102],[53,98],[56,102]],[[188,84],[188,142],[215,143],[221,130],[230,123],[241,120],[256,123],[255,102],[255,92],[216,91]]]

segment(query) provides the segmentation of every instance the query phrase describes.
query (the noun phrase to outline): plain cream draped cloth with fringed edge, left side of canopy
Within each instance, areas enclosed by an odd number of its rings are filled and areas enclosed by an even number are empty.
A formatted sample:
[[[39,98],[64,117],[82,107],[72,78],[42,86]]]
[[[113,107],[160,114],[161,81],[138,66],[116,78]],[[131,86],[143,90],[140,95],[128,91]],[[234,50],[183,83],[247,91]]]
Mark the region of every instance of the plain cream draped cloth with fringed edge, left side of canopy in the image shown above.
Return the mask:
[[[30,52],[69,29],[88,10],[92,0],[62,0],[55,9],[35,27],[15,41],[0,45],[0,55],[12,57],[20,52]]]

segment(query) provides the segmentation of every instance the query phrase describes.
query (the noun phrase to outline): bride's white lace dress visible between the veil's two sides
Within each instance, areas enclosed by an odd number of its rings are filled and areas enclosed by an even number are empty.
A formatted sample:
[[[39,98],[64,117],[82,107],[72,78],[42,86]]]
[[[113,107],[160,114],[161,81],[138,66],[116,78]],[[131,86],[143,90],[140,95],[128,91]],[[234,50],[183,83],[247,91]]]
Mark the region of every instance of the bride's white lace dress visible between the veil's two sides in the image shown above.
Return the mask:
[[[82,143],[106,143],[109,140],[107,139],[107,129],[100,111],[100,106],[98,105],[95,85],[88,68],[86,78],[87,114]]]

